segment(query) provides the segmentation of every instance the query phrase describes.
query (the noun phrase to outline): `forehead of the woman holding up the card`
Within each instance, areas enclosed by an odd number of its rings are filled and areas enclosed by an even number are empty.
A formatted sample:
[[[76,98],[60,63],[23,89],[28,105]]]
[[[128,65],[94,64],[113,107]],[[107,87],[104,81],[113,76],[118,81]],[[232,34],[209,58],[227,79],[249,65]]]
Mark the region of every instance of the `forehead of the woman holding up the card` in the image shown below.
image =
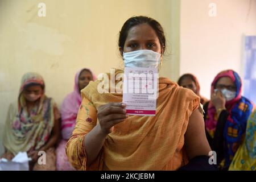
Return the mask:
[[[158,40],[155,30],[147,23],[139,24],[131,27],[128,31],[126,41],[137,41],[137,40]]]

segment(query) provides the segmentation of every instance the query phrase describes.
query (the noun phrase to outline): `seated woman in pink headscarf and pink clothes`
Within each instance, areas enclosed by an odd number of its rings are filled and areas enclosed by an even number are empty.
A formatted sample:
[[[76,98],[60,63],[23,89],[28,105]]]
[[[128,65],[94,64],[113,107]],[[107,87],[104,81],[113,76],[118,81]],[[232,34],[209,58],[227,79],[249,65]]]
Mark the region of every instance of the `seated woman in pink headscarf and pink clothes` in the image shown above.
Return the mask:
[[[96,80],[96,76],[90,69],[81,69],[75,76],[75,87],[72,93],[65,97],[61,105],[61,134],[62,140],[56,149],[57,171],[71,171],[74,168],[68,162],[65,147],[69,137],[71,137],[76,124],[76,117],[79,106],[82,102],[80,91],[89,84],[90,81]]]

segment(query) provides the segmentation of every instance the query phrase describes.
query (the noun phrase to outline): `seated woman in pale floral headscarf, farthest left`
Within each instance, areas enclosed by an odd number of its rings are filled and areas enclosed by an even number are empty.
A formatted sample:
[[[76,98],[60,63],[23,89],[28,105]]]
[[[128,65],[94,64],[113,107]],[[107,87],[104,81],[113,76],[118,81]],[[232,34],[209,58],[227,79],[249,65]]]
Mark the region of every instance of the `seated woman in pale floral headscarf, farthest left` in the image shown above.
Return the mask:
[[[9,107],[3,136],[6,152],[1,157],[11,160],[18,152],[27,152],[33,170],[56,169],[54,146],[60,137],[60,114],[44,88],[38,73],[22,77],[18,102]],[[39,151],[46,152],[46,164],[38,163]]]

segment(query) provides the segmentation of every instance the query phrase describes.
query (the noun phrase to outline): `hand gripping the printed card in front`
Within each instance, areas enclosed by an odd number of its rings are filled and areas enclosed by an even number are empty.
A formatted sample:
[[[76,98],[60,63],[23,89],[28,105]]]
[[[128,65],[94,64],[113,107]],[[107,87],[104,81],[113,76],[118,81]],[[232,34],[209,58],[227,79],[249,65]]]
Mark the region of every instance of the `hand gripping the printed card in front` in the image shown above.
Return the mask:
[[[100,122],[100,129],[102,134],[109,134],[112,132],[112,127],[119,122],[128,118],[126,114],[126,104],[119,102],[112,102],[101,105],[98,108],[97,118]]]

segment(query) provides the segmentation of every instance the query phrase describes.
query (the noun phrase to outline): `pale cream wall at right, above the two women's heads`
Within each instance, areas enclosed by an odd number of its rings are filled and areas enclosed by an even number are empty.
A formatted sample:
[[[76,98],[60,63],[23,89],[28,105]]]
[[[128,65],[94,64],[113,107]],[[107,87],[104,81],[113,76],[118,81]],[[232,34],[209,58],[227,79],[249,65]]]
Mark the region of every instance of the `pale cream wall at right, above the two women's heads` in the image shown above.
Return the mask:
[[[217,16],[208,15],[216,3]],[[255,0],[181,0],[180,74],[195,73],[210,97],[214,76],[224,69],[243,75],[243,35],[256,35]]]

